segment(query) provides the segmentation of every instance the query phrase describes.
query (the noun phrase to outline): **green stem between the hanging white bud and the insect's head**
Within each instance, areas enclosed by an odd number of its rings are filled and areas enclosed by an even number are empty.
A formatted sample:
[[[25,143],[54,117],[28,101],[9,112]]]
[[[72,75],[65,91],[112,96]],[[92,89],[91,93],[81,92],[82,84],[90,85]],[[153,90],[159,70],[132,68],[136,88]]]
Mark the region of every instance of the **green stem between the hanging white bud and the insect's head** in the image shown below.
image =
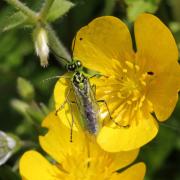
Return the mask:
[[[47,24],[45,26],[45,29],[48,32],[49,47],[54,51],[55,55],[61,56],[61,57],[66,58],[67,60],[70,60],[71,58],[70,54],[68,53],[64,45],[61,43],[55,31],[52,29],[52,27],[49,24]],[[65,65],[63,61],[61,62],[62,64]]]

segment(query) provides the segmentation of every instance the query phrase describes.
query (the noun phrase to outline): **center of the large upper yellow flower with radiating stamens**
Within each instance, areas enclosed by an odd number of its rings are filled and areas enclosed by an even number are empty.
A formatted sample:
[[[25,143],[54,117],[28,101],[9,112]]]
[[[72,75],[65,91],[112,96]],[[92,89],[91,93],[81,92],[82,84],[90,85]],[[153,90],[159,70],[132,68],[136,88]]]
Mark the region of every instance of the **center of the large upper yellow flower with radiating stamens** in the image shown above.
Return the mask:
[[[109,77],[109,86],[104,91],[110,96],[107,99],[108,105],[114,102],[110,108],[111,116],[120,126],[130,126],[134,122],[137,124],[142,109],[148,108],[152,111],[152,105],[146,95],[154,73],[142,72],[138,65],[130,61],[125,61],[116,68],[120,72]],[[115,126],[115,123],[112,122],[112,125]]]

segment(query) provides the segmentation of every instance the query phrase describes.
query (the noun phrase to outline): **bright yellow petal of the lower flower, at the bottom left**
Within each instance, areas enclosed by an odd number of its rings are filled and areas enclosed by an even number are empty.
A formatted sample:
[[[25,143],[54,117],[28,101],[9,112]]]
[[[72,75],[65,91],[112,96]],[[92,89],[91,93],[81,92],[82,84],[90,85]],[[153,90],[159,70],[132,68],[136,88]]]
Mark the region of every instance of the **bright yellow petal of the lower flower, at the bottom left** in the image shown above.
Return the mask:
[[[20,160],[20,174],[26,180],[55,180],[60,171],[36,151],[24,153]]]

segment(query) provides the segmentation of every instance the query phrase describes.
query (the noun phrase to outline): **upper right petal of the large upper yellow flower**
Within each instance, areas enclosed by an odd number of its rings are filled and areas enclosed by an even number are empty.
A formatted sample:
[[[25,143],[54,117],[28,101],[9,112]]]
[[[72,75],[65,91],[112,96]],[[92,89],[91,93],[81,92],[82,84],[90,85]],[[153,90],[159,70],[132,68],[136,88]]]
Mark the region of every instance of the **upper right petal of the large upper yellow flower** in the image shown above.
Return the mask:
[[[177,63],[178,49],[170,30],[151,14],[140,15],[135,22],[137,53],[144,57],[144,68],[164,71],[171,63]]]

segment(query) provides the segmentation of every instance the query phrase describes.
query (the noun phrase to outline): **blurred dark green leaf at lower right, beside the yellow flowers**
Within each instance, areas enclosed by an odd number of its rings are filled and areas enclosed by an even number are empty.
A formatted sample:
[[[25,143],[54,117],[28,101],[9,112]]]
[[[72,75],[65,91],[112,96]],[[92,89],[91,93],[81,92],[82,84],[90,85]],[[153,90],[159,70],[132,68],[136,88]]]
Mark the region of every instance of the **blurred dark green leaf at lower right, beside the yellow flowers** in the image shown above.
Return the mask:
[[[174,121],[170,119],[169,121]],[[177,132],[169,128],[167,123],[160,125],[157,137],[141,150],[140,159],[145,161],[150,175],[166,165],[165,160],[177,144]]]

